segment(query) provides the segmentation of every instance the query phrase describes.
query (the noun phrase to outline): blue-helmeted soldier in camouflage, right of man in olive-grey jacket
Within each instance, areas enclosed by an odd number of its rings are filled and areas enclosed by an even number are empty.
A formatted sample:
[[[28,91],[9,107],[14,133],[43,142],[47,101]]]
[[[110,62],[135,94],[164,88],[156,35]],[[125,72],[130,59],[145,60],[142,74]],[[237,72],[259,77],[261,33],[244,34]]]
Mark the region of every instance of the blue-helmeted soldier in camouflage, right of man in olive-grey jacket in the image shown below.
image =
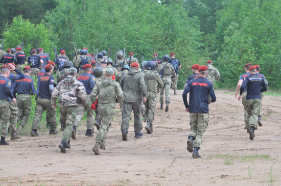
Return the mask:
[[[156,64],[153,61],[148,61],[146,64],[146,69],[142,72],[144,74],[145,83],[147,87],[147,101],[145,102],[146,116],[147,116],[147,126],[146,130],[148,134],[153,131],[153,119],[156,107],[157,98],[157,87],[162,88],[163,82],[158,72],[155,71]]]

